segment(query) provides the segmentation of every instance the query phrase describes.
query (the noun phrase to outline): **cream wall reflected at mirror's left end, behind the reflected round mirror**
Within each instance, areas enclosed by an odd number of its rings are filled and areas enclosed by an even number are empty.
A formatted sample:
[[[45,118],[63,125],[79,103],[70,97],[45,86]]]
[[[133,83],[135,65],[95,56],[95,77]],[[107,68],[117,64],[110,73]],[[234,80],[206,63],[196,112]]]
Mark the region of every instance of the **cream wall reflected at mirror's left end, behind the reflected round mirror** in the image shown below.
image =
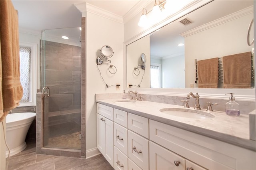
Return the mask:
[[[144,53],[146,55],[146,67],[145,74],[144,70],[141,67],[138,67],[138,64],[142,64],[140,59],[140,54]],[[146,36],[137,40],[134,43],[127,45],[127,87],[128,84],[137,85],[141,82],[140,86],[143,88],[150,88],[150,36]],[[140,74],[134,74],[134,67],[138,67]],[[135,71],[138,74],[138,71]],[[144,76],[143,76],[144,74]],[[143,77],[143,79],[142,79]],[[132,88],[138,88],[132,86]]]

